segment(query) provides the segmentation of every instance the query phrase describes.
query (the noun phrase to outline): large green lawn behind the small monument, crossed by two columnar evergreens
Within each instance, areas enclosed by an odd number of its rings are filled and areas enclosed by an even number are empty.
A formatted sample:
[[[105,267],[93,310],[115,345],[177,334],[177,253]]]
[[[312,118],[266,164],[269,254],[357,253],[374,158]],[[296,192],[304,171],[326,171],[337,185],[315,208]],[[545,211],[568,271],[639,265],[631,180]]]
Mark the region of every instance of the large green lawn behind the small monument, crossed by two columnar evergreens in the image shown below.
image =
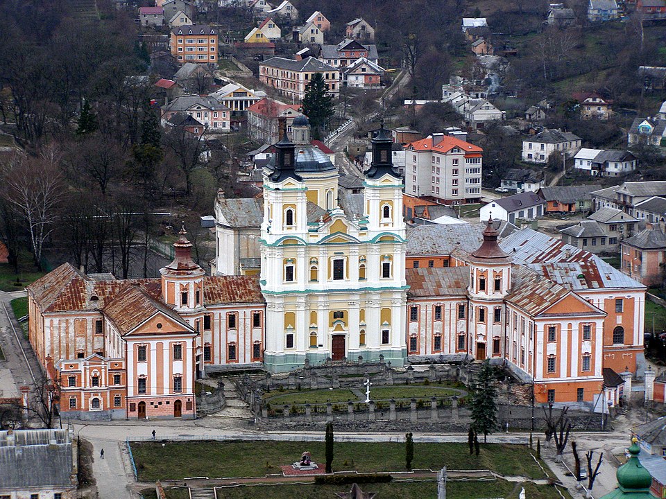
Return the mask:
[[[139,481],[182,480],[187,477],[253,477],[280,473],[280,466],[296,461],[304,450],[322,462],[324,442],[298,441],[188,441],[132,444]],[[334,471],[402,471],[404,444],[399,442],[337,442]],[[414,445],[414,469],[490,469],[502,475],[544,478],[527,446],[482,444],[470,456],[467,444]]]

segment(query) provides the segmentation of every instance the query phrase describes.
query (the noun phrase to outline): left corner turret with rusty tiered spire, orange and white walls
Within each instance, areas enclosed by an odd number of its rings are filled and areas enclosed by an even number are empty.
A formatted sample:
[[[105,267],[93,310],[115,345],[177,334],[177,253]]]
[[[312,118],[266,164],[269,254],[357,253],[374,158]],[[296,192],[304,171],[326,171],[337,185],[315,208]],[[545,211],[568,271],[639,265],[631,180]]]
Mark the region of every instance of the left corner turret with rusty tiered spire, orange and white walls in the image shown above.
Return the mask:
[[[187,240],[185,227],[173,243],[176,258],[160,269],[162,274],[162,299],[176,310],[187,312],[203,306],[203,268],[192,260],[192,243]]]

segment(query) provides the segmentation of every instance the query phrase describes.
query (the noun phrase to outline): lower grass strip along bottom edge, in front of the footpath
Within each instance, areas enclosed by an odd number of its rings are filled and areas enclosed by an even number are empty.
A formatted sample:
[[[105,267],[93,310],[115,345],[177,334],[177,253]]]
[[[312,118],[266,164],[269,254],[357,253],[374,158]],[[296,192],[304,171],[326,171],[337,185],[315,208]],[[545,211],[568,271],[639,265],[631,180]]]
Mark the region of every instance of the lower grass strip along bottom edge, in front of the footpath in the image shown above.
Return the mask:
[[[550,485],[534,485],[527,483],[512,483],[506,480],[493,480],[492,482],[447,482],[446,491],[452,498],[482,499],[503,497],[518,499],[520,489],[525,488],[526,496],[530,499],[561,499],[560,494]],[[257,485],[253,487],[216,487],[218,499],[319,499],[334,498],[336,492],[348,492],[350,485]],[[437,484],[432,481],[423,482],[392,482],[389,484],[364,484],[364,492],[376,492],[377,498],[400,499],[436,499]],[[492,492],[490,492],[492,491]],[[571,496],[561,489],[563,496]],[[189,499],[187,489],[166,489],[167,499]],[[142,491],[145,499],[156,499],[154,489]]]

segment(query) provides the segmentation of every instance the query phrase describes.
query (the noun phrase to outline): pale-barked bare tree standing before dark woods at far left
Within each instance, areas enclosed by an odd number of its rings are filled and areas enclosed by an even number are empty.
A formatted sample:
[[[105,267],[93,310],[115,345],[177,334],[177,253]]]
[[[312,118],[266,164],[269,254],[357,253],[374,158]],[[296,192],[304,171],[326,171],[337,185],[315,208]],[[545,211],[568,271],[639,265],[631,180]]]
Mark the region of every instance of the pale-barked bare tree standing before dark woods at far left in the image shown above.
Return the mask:
[[[42,149],[40,156],[28,159],[15,155],[3,170],[3,198],[13,204],[26,223],[35,266],[42,269],[42,249],[58,219],[65,186],[58,168],[60,152],[55,146]]]

